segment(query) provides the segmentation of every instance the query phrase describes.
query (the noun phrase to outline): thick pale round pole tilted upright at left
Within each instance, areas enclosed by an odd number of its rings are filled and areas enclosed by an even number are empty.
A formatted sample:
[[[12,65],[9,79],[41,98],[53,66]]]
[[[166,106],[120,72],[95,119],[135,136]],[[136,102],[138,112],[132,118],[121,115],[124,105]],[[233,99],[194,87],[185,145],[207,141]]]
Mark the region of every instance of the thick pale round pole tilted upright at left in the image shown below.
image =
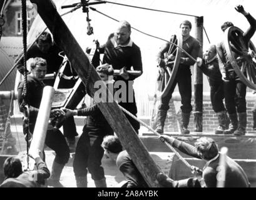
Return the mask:
[[[37,149],[43,153],[44,141],[46,138],[48,121],[51,112],[51,104],[53,103],[54,89],[51,86],[45,86],[43,96],[34,126],[33,139],[29,148],[29,153],[37,152]],[[40,155],[40,156],[43,156]]]

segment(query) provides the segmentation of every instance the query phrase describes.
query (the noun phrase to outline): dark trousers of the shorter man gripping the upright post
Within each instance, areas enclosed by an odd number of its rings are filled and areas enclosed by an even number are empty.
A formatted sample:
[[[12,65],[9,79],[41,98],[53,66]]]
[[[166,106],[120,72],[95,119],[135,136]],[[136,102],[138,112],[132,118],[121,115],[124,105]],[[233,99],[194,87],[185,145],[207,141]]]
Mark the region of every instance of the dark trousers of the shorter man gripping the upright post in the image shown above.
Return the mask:
[[[224,99],[224,86],[223,81],[221,82],[211,82],[210,83],[210,98],[212,103],[212,108],[215,113],[220,111],[225,111],[225,106],[223,104]]]

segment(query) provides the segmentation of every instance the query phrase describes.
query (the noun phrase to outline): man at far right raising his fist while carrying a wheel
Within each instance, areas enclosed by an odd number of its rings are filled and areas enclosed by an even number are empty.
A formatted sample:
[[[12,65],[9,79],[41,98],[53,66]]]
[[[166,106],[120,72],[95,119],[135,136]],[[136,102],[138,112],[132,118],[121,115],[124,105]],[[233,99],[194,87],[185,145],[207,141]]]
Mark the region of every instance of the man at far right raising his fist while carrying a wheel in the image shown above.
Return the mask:
[[[247,31],[243,32],[242,36],[244,44],[248,47],[250,38],[256,31],[256,20],[243,9],[242,5],[236,6],[235,9],[237,12],[242,13],[250,23],[250,27]],[[230,26],[233,26],[232,22],[224,22],[221,26],[222,31],[224,32]],[[235,53],[235,51],[232,51],[232,53],[235,58],[238,57],[238,54]],[[217,55],[218,65],[224,81],[225,106],[231,122],[229,129],[225,130],[225,133],[242,136],[245,135],[247,127],[247,109],[245,99],[247,86],[235,73],[230,60],[227,57],[227,51],[223,41],[217,44]]]

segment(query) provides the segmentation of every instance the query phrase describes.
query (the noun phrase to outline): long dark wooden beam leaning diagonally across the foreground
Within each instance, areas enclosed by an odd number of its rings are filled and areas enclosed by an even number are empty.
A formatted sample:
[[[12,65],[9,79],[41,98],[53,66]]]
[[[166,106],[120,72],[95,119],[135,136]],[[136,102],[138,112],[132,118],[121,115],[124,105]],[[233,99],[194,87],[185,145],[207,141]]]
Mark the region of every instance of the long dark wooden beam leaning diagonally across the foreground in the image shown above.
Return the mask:
[[[43,19],[46,26],[53,34],[54,42],[63,49],[64,53],[71,62],[78,76],[86,83],[86,75],[90,68],[90,61],[84,54],[83,49],[79,46],[73,34],[69,31],[63,19],[56,11],[56,6],[51,0],[31,0],[38,8],[38,14]],[[90,79],[88,81],[88,90],[91,96],[95,94],[95,81],[100,81],[100,76],[95,69],[91,69]],[[103,91],[107,91],[106,85],[103,85]],[[106,92],[105,92],[106,93]],[[103,94],[106,95],[106,94]],[[114,103],[99,103],[99,108],[104,114],[111,128],[115,131],[126,151],[130,154],[133,163],[140,171],[146,183],[150,187],[160,187],[156,183],[156,174],[160,173],[160,169],[156,166],[144,144],[141,143],[135,130],[131,127],[125,114],[120,110],[118,104]]]

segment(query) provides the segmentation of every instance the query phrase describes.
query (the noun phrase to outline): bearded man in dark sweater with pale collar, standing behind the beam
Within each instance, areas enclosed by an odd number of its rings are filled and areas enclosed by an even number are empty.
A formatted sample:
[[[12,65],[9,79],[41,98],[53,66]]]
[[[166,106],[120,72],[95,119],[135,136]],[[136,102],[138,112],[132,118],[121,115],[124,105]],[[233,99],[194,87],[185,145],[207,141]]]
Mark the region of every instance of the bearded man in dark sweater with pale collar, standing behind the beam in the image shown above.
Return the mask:
[[[115,81],[124,81],[126,84],[126,101],[118,102],[118,104],[136,116],[137,106],[135,101],[135,94],[133,89],[129,90],[129,86],[132,87],[132,84],[128,83],[131,83],[131,81],[134,81],[136,78],[138,78],[143,73],[143,69],[140,47],[138,47],[131,40],[130,35],[131,25],[127,21],[119,22],[116,31],[113,34],[110,34],[108,41],[103,46],[105,47],[103,63],[111,64],[113,69],[125,68],[123,73],[121,73],[121,76],[114,76]],[[126,70],[131,70],[131,68],[133,68],[135,71],[141,71],[141,74],[135,76],[127,73]],[[116,88],[116,90],[120,88]],[[133,98],[131,98],[131,96]],[[133,126],[135,129],[136,133],[138,133],[138,130],[140,129],[140,123],[135,121],[135,119],[131,118],[127,114],[125,115],[126,118],[130,121],[131,126]]]

